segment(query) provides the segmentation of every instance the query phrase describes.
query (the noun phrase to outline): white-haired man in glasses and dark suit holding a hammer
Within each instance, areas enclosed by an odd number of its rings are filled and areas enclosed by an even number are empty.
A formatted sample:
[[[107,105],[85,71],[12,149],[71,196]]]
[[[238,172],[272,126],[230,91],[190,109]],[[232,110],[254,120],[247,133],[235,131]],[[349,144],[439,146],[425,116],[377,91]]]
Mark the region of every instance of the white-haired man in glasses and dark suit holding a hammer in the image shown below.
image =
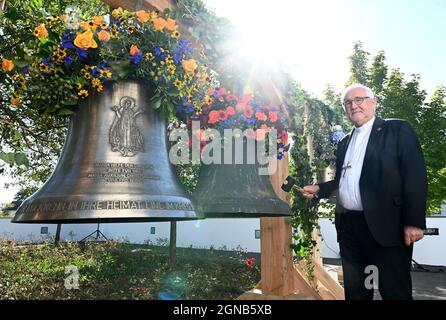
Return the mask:
[[[338,144],[336,176],[303,188],[312,199],[336,197],[335,224],[345,297],[412,299],[413,243],[426,228],[427,175],[420,144],[404,120],[375,117],[370,88],[342,95],[354,128]]]

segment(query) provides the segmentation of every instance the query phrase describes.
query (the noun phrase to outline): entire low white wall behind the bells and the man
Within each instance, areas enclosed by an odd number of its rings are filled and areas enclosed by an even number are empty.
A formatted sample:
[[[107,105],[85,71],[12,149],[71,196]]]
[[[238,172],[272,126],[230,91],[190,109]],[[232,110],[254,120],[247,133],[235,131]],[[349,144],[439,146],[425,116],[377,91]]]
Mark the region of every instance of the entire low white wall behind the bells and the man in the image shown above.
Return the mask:
[[[40,227],[47,226],[50,234],[56,232],[56,225],[17,224],[9,219],[0,219],[0,238],[16,241],[41,239]],[[61,239],[79,241],[96,230],[96,224],[64,224]],[[150,234],[155,227],[155,234]],[[320,219],[322,236],[321,254],[324,258],[339,258],[334,224],[329,219]],[[439,228],[438,236],[425,236],[414,247],[413,259],[420,264],[446,266],[446,216],[427,218],[428,228]],[[207,219],[177,223],[177,246],[195,248],[226,247],[228,250],[241,246],[249,252],[260,252],[260,239],[255,239],[255,230],[260,229],[259,219]],[[143,243],[150,240],[169,238],[170,223],[104,223],[100,230],[109,239]],[[70,232],[72,235],[70,236]],[[74,236],[73,236],[74,233]]]

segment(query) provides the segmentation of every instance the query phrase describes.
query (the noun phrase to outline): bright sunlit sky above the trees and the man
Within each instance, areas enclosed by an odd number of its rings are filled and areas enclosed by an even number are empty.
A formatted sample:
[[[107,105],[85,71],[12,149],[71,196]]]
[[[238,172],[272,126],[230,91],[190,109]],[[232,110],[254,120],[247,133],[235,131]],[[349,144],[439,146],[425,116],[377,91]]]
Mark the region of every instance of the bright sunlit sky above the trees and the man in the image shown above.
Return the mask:
[[[327,83],[342,90],[357,40],[372,55],[384,50],[390,68],[420,74],[428,92],[446,85],[444,0],[205,2],[253,40],[252,55],[272,48],[270,55],[280,55],[291,75],[317,95]]]

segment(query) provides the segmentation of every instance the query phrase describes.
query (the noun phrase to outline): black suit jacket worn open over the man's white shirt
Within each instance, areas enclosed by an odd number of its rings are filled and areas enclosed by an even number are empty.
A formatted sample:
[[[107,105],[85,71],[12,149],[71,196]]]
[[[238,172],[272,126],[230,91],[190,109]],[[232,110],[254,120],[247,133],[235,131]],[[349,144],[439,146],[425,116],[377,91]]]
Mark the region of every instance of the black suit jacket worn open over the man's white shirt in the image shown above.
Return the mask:
[[[320,198],[337,198],[335,224],[338,235],[345,209],[337,194],[352,133],[353,130],[338,144],[335,179],[319,184]],[[370,232],[382,246],[403,244],[406,225],[426,228],[426,165],[418,138],[407,121],[375,118],[359,188]]]

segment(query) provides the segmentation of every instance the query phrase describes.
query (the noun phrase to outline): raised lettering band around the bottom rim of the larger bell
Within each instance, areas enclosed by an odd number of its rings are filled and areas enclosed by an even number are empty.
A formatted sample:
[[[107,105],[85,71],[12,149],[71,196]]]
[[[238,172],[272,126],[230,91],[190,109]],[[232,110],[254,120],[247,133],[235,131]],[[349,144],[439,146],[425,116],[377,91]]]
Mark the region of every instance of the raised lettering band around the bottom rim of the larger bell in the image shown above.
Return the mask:
[[[99,200],[55,201],[33,203],[23,208],[23,213],[32,211],[87,211],[87,210],[183,210],[193,211],[187,202],[149,200]]]

